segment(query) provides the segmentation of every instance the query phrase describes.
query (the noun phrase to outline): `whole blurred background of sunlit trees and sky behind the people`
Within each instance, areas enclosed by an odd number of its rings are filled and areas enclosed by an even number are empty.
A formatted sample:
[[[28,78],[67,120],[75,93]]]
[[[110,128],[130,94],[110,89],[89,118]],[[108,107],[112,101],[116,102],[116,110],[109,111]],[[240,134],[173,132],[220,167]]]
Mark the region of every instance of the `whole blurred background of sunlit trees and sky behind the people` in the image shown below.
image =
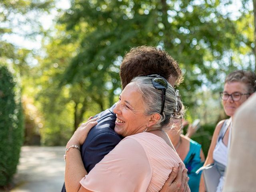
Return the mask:
[[[0,63],[20,74],[25,144],[65,145],[117,101],[124,54],[150,45],[178,60],[186,119],[201,120],[193,139],[206,153],[225,118],[225,75],[255,70],[253,12],[251,0],[2,0]]]

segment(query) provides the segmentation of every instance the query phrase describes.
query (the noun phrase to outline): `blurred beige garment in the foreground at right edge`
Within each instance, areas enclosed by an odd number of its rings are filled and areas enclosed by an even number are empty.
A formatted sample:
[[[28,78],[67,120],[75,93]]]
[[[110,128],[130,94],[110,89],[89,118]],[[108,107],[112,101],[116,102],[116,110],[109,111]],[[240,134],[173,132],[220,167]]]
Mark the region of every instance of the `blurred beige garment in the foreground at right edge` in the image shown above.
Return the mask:
[[[256,190],[256,94],[236,111],[224,192]]]

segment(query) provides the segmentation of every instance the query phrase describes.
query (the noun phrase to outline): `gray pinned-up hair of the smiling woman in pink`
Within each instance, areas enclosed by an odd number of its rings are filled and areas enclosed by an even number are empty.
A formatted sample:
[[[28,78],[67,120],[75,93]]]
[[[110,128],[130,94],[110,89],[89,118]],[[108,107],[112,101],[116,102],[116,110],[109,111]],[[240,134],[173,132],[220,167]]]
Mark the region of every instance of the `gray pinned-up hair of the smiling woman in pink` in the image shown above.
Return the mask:
[[[136,77],[131,83],[138,87],[138,91],[142,95],[145,107],[145,115],[149,116],[155,113],[160,114],[162,108],[162,90],[154,88],[152,84],[153,77]],[[176,108],[177,103],[177,108]],[[152,126],[153,130],[167,131],[172,128],[170,121],[172,118],[180,118],[184,115],[184,106],[182,101],[175,94],[174,88],[168,83],[166,89],[164,112],[158,123]]]

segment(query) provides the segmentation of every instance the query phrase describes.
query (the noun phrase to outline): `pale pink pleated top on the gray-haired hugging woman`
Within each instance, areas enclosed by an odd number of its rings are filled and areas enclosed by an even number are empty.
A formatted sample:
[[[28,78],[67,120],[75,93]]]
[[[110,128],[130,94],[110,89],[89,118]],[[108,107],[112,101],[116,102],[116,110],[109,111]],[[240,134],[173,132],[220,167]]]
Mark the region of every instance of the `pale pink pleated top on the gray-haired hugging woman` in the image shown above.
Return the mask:
[[[159,191],[180,162],[162,138],[142,132],[124,138],[80,184],[95,192]]]

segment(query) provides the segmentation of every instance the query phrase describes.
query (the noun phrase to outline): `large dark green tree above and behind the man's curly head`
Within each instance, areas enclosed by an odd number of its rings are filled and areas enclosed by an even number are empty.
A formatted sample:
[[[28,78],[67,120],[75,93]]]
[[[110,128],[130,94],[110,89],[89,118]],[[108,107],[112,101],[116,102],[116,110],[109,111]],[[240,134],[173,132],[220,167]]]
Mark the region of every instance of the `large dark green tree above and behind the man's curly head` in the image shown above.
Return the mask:
[[[108,72],[118,80],[107,80],[115,89],[120,86],[118,58],[134,46],[159,46],[180,62],[185,74],[180,88],[189,106],[190,94],[202,84],[219,88],[226,72],[243,68],[237,58],[244,54],[239,48],[246,39],[230,13],[220,11],[230,2],[74,1],[60,19],[72,34],[66,41],[79,42],[63,82],[90,78],[92,85],[106,90],[101,77]]]

